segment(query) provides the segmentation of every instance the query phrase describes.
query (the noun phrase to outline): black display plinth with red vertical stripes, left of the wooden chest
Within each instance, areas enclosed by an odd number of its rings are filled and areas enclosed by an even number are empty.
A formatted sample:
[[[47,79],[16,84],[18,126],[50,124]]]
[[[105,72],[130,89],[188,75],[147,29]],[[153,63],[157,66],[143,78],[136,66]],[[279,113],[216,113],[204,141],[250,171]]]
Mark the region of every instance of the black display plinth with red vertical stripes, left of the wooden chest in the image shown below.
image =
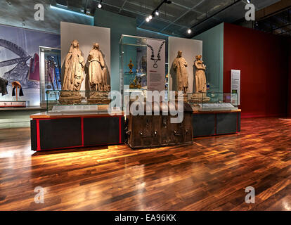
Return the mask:
[[[32,150],[56,150],[124,143],[123,115],[31,116]]]

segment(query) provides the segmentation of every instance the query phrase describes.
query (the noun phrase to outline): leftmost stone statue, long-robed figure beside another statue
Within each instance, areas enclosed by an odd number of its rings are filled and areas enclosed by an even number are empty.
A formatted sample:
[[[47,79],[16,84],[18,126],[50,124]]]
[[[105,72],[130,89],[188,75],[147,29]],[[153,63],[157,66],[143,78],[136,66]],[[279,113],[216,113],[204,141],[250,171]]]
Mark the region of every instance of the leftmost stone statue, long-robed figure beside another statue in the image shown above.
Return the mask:
[[[71,47],[65,58],[65,75],[63,91],[79,91],[84,79],[84,58],[79,50],[79,42],[72,41]]]

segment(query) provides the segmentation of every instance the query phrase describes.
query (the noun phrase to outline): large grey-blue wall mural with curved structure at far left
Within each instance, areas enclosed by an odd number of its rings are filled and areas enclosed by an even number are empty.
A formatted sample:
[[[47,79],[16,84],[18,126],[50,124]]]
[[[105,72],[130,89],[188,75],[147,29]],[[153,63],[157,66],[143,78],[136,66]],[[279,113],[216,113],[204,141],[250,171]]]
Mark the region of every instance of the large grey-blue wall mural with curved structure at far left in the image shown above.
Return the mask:
[[[0,101],[12,101],[12,82],[20,82],[22,101],[39,105],[39,46],[60,48],[60,35],[0,25],[0,77],[8,81],[8,94]]]

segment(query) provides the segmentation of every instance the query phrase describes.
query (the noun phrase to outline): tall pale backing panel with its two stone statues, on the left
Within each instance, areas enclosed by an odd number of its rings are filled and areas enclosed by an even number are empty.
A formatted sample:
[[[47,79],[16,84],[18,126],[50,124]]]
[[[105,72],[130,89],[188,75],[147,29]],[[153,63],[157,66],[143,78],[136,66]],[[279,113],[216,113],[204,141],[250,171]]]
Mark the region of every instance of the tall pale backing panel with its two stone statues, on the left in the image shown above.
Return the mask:
[[[60,37],[63,66],[60,103],[108,104],[110,28],[61,22]]]

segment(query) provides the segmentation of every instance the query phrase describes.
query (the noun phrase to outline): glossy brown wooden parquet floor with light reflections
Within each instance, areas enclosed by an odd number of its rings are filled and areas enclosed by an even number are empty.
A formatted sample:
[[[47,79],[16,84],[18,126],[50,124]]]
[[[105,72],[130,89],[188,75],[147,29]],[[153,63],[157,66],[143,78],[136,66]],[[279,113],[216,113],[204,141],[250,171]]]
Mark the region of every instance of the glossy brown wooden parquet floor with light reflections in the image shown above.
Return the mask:
[[[143,150],[33,152],[30,129],[0,129],[0,210],[291,210],[291,120],[245,119],[240,134]]]

